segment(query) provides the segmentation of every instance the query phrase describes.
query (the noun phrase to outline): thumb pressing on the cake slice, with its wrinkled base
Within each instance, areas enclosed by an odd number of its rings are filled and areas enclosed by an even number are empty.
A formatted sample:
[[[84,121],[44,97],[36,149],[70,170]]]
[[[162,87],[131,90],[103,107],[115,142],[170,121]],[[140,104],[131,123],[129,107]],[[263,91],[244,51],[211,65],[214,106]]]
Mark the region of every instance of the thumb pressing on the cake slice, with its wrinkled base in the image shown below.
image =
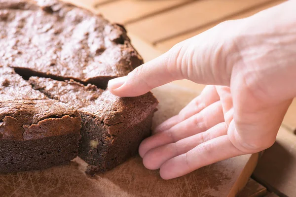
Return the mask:
[[[120,97],[140,96],[179,79],[200,84],[229,85],[235,61],[236,21],[220,25],[175,45],[158,58],[135,68],[127,76],[109,81],[108,88]],[[229,55],[232,57],[229,58]]]

